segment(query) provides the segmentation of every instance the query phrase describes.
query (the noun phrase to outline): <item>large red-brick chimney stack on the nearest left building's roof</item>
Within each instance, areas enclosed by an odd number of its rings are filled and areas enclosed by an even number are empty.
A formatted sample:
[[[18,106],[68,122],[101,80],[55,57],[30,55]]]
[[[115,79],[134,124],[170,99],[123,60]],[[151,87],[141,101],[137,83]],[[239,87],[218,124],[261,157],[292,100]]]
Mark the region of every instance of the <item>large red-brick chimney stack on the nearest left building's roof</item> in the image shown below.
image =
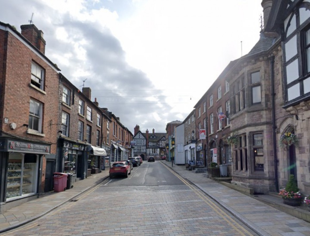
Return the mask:
[[[43,31],[39,30],[35,25],[21,25],[21,34],[28,39],[30,43],[45,54],[45,40],[43,39]]]

